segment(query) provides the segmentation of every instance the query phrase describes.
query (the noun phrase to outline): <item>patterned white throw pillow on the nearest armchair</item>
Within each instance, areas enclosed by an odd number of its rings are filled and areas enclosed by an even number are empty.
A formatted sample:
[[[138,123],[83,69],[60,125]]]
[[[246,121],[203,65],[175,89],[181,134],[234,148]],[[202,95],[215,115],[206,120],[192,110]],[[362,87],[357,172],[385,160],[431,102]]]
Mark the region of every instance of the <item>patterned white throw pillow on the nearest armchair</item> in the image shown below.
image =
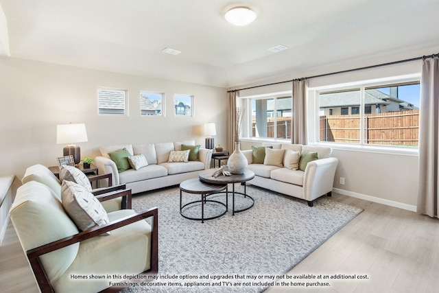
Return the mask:
[[[61,202],[62,207],[81,231],[110,222],[101,202],[78,183],[62,181]]]

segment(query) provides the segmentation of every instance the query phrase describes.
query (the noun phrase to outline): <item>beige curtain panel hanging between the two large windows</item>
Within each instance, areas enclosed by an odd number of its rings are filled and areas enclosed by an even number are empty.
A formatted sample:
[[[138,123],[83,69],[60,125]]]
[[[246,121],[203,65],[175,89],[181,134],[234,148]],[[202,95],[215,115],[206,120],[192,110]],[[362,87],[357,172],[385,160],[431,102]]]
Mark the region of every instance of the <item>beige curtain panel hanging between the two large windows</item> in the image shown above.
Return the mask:
[[[292,143],[306,145],[307,139],[307,80],[293,81]]]

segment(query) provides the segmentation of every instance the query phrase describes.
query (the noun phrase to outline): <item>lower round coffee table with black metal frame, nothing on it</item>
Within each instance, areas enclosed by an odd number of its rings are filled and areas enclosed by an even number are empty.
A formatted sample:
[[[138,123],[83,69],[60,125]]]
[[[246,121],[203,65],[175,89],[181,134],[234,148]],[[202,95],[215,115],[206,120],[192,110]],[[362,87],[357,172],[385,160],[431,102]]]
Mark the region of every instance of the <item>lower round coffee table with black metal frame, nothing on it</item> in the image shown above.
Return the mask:
[[[224,202],[219,202],[217,200],[207,200],[206,197],[211,194],[217,194],[221,191],[224,191],[226,189],[227,185],[217,185],[217,184],[209,184],[204,183],[200,181],[198,178],[185,180],[182,183],[180,183],[180,215],[182,215],[184,218],[187,218],[189,220],[201,220],[202,223],[204,223],[204,220],[213,220],[216,218],[221,217],[222,215],[225,215],[227,213],[227,203],[224,204]],[[188,202],[185,205],[182,205],[182,191],[187,192],[188,194],[201,194],[201,200],[194,200],[192,202]],[[227,200],[227,194],[226,194],[226,200]],[[201,218],[195,218],[195,217],[189,217],[188,215],[184,215],[182,210],[192,204],[196,204],[198,202],[201,202]],[[219,213],[218,215],[213,215],[209,218],[204,218],[204,204],[206,202],[215,202],[216,204],[221,204],[226,209],[224,212]]]

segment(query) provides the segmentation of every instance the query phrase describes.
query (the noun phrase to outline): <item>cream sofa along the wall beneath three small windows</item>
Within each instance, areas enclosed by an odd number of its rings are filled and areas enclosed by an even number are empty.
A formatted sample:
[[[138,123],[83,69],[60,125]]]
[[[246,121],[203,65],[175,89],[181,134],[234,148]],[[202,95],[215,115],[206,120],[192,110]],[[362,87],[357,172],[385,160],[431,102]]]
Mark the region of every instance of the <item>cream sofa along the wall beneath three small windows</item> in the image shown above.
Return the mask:
[[[171,185],[178,185],[182,181],[198,178],[198,173],[211,167],[212,150],[200,148],[198,161],[187,163],[168,163],[171,151],[181,150],[181,145],[195,145],[195,141],[176,141],[169,143],[145,143],[139,145],[109,145],[99,148],[102,156],[95,158],[98,174],[112,174],[112,184],[125,184],[133,194],[149,191]],[[114,161],[108,153],[126,148],[132,155],[143,154],[147,166],[141,169],[128,169],[118,172]]]

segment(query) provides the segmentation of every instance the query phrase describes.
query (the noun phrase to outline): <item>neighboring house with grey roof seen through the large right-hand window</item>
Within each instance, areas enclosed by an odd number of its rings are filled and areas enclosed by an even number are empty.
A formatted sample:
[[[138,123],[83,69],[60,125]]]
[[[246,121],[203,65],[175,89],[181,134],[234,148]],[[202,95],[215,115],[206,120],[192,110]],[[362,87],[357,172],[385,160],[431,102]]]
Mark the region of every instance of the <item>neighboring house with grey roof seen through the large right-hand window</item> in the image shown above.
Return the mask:
[[[398,98],[397,91],[387,95],[377,89],[367,89],[364,97],[364,113],[385,113],[417,108]],[[359,114],[359,91],[324,93],[320,95],[320,115],[355,115]]]

